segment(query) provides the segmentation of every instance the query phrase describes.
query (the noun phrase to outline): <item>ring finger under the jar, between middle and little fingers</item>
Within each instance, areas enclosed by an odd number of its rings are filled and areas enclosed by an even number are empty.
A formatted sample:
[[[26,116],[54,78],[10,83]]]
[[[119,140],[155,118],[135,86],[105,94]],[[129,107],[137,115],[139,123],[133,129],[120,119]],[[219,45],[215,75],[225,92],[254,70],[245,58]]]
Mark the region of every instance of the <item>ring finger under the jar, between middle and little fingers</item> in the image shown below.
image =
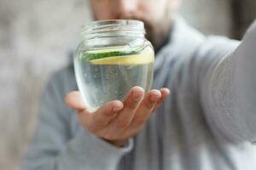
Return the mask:
[[[154,106],[157,104],[158,100],[161,98],[161,93],[159,90],[151,90],[148,92],[146,97],[143,99],[139,105],[136,114],[134,115],[131,127],[141,126],[150,116],[151,112],[154,109]]]

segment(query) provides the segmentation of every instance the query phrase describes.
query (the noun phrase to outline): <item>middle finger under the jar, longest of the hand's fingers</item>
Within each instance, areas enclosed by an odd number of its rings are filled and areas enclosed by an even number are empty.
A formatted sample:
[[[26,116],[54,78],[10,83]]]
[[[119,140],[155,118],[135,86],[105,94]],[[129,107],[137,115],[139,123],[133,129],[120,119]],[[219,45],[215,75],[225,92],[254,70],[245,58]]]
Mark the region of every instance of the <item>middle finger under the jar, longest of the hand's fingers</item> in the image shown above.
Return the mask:
[[[128,127],[140,101],[143,99],[144,90],[140,87],[131,88],[124,99],[124,108],[119,115],[109,124],[109,126],[118,127],[119,129]]]

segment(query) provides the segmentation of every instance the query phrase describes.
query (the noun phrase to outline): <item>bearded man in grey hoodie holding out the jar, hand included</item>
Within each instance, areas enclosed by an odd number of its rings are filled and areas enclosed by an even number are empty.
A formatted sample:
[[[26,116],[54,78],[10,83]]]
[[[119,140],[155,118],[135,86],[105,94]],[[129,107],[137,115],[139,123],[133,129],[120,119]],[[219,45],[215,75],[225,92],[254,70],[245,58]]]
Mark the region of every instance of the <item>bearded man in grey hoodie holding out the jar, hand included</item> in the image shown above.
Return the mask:
[[[256,23],[239,45],[188,26],[175,15],[177,0],[90,4],[95,20],[145,22],[157,52],[155,89],[131,88],[123,102],[90,113],[71,92],[72,66],[59,71],[44,91],[23,169],[256,168]]]

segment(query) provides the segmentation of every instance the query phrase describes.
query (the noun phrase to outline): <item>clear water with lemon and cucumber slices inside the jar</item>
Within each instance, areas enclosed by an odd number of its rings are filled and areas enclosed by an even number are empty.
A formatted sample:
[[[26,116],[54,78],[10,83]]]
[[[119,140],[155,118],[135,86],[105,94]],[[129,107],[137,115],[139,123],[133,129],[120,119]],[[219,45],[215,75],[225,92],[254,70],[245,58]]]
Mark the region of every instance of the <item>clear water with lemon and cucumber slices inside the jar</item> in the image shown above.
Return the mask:
[[[122,101],[134,86],[144,88],[145,92],[151,88],[153,49],[146,46],[133,54],[124,53],[122,48],[87,50],[85,55],[74,59],[79,91],[89,111],[96,111],[108,101]]]

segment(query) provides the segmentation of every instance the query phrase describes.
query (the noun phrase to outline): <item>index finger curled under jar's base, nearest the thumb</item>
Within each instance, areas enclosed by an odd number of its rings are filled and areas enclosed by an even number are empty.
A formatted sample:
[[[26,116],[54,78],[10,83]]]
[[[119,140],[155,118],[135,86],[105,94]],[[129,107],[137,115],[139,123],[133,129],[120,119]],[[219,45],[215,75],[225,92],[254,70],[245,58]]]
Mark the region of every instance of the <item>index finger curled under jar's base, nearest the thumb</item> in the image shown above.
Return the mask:
[[[102,105],[95,113],[91,114],[90,129],[93,131],[102,129],[108,125],[113,117],[123,109],[124,105],[119,100],[114,100]]]

